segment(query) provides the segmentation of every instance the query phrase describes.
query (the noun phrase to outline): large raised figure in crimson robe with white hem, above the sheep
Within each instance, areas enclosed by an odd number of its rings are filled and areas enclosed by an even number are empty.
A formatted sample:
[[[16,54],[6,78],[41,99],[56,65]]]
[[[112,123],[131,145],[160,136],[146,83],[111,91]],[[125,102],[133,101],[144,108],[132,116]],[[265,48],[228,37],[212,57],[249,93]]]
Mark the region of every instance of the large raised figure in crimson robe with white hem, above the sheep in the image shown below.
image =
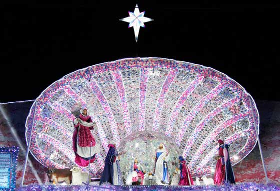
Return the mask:
[[[86,167],[89,163],[95,161],[97,148],[95,147],[95,139],[91,135],[90,130],[96,127],[87,114],[87,109],[83,109],[82,113],[74,121],[74,133],[72,136],[73,151],[75,153],[75,163],[78,166]]]

